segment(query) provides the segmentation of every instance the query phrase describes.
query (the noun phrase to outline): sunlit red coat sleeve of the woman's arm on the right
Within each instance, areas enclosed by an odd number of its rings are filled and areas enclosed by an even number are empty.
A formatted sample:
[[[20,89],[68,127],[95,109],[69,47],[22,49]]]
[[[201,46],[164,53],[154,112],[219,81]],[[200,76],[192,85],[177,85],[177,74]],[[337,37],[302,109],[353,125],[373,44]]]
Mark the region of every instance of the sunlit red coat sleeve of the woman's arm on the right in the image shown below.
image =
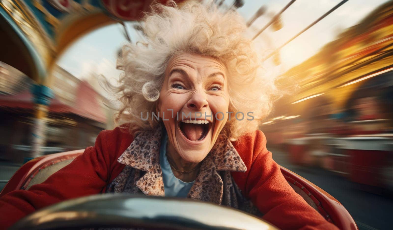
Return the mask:
[[[266,149],[266,137],[258,130],[247,162],[245,189],[264,213],[263,219],[280,229],[338,229],[326,221],[286,182],[279,165]]]

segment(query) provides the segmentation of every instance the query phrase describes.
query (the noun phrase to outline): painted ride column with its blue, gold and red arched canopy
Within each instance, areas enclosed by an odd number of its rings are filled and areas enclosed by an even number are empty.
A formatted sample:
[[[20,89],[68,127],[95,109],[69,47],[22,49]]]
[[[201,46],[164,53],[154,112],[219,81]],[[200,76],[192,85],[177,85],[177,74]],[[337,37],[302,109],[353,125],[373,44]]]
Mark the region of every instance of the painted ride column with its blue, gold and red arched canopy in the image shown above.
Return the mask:
[[[28,150],[31,158],[44,153],[51,102],[59,99],[53,93],[56,82],[53,76],[62,52],[81,35],[96,28],[139,20],[143,11],[149,11],[151,2],[132,1],[124,7],[122,1],[116,0],[0,0],[0,61],[31,80],[31,88],[26,91],[32,94],[29,100],[34,104],[26,114],[32,121],[31,130],[26,130],[30,135]],[[182,0],[175,2],[181,3]],[[64,90],[62,87],[59,89]],[[89,113],[88,109],[84,108],[83,113]],[[6,134],[4,132],[2,134]]]

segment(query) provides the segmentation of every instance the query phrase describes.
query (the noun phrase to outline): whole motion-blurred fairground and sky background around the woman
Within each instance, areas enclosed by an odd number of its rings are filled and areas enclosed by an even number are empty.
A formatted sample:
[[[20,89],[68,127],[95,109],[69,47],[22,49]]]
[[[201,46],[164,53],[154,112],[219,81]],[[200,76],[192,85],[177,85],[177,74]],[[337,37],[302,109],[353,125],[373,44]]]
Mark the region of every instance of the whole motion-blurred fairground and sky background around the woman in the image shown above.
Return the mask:
[[[0,0],[0,189],[24,162],[114,128],[117,104],[99,79],[116,85],[120,47],[143,42],[151,2]],[[391,229],[393,1],[214,2],[244,17],[286,93],[260,127],[275,161],[360,229]]]

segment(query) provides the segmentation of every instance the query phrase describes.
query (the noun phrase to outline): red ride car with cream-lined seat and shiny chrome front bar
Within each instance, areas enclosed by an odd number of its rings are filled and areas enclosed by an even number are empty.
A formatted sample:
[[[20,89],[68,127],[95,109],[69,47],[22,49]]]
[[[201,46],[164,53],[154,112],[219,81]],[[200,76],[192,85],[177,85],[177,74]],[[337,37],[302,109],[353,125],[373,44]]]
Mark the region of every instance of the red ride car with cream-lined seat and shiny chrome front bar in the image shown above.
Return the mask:
[[[0,197],[44,182],[83,152],[84,150],[74,150],[49,154],[28,161],[11,177],[0,192]],[[281,172],[296,193],[327,221],[343,230],[358,229],[349,212],[334,197],[284,167],[281,167]],[[32,213],[11,229],[98,226],[143,229],[276,229],[262,219],[224,206],[190,199],[125,194],[93,195],[67,200]]]

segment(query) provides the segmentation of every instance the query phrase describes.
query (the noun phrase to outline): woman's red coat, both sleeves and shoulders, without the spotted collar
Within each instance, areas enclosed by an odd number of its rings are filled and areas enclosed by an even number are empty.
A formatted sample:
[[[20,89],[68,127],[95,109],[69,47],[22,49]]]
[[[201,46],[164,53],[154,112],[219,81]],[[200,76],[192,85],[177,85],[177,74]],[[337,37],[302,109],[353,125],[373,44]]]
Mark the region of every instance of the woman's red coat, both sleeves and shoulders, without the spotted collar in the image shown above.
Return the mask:
[[[51,175],[42,184],[4,195],[0,199],[0,228],[7,228],[35,210],[67,200],[105,191],[125,165],[118,162],[134,140],[119,128],[102,131],[94,147],[69,165]],[[261,131],[242,136],[232,143],[246,172],[231,172],[244,196],[250,198],[263,219],[281,229],[337,229],[298,195],[286,182],[279,165],[266,149]]]

